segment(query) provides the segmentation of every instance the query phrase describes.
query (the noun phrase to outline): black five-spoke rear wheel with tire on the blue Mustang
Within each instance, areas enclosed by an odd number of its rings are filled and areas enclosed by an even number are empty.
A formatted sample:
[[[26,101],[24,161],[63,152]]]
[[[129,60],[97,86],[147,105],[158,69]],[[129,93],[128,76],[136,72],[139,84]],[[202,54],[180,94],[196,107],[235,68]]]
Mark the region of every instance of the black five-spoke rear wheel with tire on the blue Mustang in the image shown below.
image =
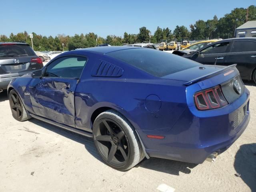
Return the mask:
[[[95,119],[93,140],[106,164],[117,170],[128,170],[145,157],[132,125],[114,110]]]

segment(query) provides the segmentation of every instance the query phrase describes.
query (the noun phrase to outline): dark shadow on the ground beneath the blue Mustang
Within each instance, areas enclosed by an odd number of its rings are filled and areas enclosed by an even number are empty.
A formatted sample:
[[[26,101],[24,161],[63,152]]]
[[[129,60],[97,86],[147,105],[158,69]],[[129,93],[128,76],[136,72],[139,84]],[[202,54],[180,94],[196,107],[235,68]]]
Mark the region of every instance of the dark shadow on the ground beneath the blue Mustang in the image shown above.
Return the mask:
[[[98,153],[96,147],[94,146],[94,142],[92,138],[88,138],[86,136],[82,136],[80,134],[76,134],[74,132],[59,128],[57,126],[53,126],[51,124],[42,122],[40,120],[36,120],[34,118],[29,120],[30,122],[41,126],[42,128],[46,128],[52,132],[55,132],[57,134],[60,134],[66,138],[69,138],[75,142],[79,142],[84,145],[84,148],[92,155],[94,158],[99,160],[100,162],[104,163],[104,160]],[[135,167],[143,167],[150,170],[155,170],[158,172],[164,172],[172,175],[179,175],[179,172],[183,172],[186,174],[189,174],[191,172],[191,169],[197,166],[197,164],[192,163],[186,163],[186,162],[179,162],[179,161],[173,161],[173,160],[167,160],[167,159],[160,159],[160,158],[150,158],[150,159],[144,159],[142,162],[140,162]]]

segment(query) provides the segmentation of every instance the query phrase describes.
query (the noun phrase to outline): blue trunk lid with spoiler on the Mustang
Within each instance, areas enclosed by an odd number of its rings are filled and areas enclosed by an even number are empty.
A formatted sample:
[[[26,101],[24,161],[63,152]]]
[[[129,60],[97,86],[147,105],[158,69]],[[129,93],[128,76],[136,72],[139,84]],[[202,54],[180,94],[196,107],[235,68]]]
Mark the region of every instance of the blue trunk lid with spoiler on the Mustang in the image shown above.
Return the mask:
[[[184,86],[197,83],[202,90],[220,85],[227,102],[232,103],[238,99],[245,90],[244,83],[235,66],[236,64],[231,66],[204,65],[189,68],[162,78],[184,81]],[[236,87],[236,83],[238,84],[238,87]]]

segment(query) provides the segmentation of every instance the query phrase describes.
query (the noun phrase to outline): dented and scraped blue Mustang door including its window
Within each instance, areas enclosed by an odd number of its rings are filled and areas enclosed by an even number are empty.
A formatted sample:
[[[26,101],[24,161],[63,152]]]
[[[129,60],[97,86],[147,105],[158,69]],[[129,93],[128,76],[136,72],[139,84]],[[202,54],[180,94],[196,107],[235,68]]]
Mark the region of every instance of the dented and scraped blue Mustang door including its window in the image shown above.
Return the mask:
[[[75,127],[74,94],[87,58],[64,56],[48,64],[36,85],[30,85],[34,113]]]

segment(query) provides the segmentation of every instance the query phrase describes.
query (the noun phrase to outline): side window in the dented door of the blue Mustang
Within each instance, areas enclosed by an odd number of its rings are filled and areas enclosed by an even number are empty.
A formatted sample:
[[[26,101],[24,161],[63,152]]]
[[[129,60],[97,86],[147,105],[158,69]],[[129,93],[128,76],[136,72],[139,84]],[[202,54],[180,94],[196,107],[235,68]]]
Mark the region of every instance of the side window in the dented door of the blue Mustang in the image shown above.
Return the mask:
[[[47,66],[44,76],[79,79],[86,62],[87,58],[85,57],[62,57]]]

